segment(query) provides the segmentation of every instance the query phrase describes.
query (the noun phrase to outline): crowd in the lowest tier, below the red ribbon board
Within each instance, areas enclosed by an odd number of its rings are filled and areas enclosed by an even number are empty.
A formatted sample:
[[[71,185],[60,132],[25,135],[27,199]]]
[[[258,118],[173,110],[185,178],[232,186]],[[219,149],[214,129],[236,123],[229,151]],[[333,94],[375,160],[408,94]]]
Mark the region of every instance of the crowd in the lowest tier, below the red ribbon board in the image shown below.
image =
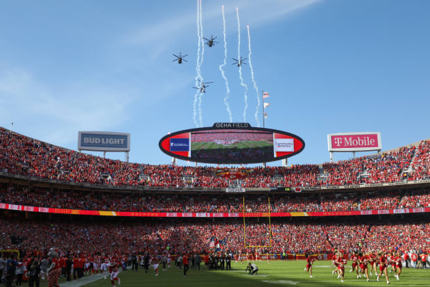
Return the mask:
[[[150,251],[163,254],[167,247],[173,254],[201,250],[209,238],[221,242],[221,248],[239,251],[246,245],[270,245],[267,223],[246,224],[243,236],[241,222],[38,222],[1,218],[4,230],[0,237],[3,249],[42,252],[49,247],[94,254]],[[377,249],[430,249],[430,224],[334,224],[273,223],[269,252],[286,249],[291,253],[330,252]],[[12,243],[11,236],[20,238]],[[245,238],[245,239],[244,239]]]

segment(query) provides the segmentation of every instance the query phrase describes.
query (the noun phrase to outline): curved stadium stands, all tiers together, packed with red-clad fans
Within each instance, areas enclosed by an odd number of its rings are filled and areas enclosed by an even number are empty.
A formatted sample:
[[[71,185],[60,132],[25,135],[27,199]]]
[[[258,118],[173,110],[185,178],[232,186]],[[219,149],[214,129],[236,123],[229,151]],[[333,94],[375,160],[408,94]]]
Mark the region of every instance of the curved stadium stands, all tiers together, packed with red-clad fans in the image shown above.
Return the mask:
[[[1,226],[10,231],[1,246],[24,261],[49,247],[94,264],[146,252],[264,264],[315,254],[329,264],[338,250],[349,260],[398,250],[405,267],[429,260],[430,140],[338,163],[248,168],[246,193],[226,193],[232,183],[215,167],[113,161],[3,128],[0,137]]]

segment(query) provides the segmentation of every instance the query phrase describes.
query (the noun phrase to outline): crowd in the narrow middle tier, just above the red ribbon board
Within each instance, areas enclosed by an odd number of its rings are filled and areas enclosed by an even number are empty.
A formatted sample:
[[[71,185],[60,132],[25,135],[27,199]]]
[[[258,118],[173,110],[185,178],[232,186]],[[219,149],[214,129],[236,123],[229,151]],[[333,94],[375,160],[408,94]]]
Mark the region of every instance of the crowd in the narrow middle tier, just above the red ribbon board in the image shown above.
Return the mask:
[[[243,195],[128,194],[78,190],[51,190],[27,186],[0,185],[0,203],[96,211],[212,212],[243,211]],[[363,211],[430,207],[428,189],[400,194],[391,192],[346,192],[334,195],[270,195],[271,212]],[[268,195],[246,195],[245,211],[268,212]]]

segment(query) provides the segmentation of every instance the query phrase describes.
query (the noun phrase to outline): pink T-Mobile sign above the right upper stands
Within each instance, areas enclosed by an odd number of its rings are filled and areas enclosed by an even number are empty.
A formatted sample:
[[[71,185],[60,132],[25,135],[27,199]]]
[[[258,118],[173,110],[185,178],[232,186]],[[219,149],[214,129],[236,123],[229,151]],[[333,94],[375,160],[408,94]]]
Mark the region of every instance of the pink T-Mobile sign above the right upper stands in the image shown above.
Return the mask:
[[[381,150],[381,133],[332,133],[327,136],[329,151]]]

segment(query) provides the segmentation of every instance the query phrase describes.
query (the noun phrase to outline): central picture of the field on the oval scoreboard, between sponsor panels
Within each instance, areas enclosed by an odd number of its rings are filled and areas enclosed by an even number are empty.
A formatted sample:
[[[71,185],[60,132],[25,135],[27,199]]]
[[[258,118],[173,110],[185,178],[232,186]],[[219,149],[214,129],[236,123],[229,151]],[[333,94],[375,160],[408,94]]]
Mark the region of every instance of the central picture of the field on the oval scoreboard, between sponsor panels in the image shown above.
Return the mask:
[[[244,129],[193,131],[191,158],[218,163],[268,161],[273,158],[273,133]]]

